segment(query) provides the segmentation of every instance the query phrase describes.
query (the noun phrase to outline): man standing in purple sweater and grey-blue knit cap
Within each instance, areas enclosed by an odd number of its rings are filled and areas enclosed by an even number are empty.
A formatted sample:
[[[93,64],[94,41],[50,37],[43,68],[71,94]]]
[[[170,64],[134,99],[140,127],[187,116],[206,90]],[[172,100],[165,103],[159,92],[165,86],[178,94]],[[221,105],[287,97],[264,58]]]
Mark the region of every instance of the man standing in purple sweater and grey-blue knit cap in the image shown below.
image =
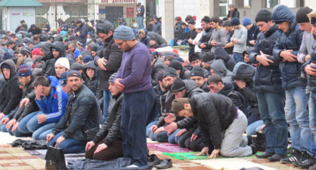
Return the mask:
[[[124,52],[114,81],[115,87],[124,93],[121,119],[123,156],[133,159],[130,167],[144,166],[147,165],[146,121],[154,104],[151,57],[146,46],[136,40],[132,28],[116,28],[113,38]]]

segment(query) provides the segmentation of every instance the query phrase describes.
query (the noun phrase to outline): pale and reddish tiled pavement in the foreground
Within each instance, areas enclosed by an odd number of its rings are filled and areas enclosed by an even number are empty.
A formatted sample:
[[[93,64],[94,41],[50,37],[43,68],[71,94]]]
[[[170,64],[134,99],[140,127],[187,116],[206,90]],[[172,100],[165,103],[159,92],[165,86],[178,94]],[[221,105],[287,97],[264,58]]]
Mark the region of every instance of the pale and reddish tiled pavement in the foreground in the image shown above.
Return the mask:
[[[16,138],[9,136],[8,133],[0,132],[0,170],[7,169],[45,169],[45,160],[25,152],[21,147],[12,148],[11,143]],[[151,143],[151,141],[148,141]],[[156,154],[160,159],[170,158],[162,152],[151,150],[150,154]],[[266,159],[255,157],[245,158],[222,158],[205,160],[178,160],[171,158],[173,167],[170,169],[189,170],[189,169],[240,169],[241,167],[261,167],[262,169],[301,169],[290,164],[281,162],[269,162]],[[155,169],[155,168],[153,168]]]

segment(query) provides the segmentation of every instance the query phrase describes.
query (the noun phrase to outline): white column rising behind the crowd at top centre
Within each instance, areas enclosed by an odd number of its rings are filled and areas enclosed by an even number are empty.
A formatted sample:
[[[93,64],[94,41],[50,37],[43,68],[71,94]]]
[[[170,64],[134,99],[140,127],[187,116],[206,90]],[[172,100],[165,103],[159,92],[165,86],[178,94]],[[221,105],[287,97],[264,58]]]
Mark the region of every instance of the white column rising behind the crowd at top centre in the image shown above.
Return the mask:
[[[159,6],[162,8],[162,36],[169,43],[174,38],[174,2],[162,0]]]

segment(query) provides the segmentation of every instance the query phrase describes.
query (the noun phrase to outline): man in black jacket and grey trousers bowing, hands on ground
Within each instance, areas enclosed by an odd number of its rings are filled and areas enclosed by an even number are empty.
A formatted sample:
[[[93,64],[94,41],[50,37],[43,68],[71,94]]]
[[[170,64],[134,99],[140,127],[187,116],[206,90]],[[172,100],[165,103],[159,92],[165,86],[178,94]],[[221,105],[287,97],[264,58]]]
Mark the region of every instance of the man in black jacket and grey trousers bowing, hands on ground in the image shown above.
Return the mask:
[[[215,93],[200,93],[190,99],[175,99],[172,110],[177,116],[198,119],[204,148],[197,155],[207,154],[208,158],[215,158],[219,153],[226,157],[256,153],[255,146],[247,146],[248,139],[243,137],[247,118],[229,98]],[[209,150],[212,146],[213,151]]]

